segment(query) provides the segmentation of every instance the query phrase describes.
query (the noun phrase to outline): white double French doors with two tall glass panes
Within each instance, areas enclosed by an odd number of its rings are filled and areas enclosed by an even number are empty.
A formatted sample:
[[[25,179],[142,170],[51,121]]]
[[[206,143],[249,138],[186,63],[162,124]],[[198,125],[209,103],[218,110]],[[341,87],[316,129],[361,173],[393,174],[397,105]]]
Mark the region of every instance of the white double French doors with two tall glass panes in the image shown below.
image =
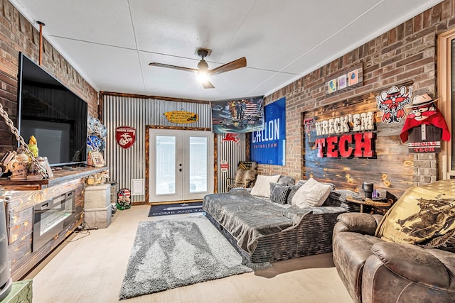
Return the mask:
[[[149,128],[149,203],[213,192],[213,133]]]

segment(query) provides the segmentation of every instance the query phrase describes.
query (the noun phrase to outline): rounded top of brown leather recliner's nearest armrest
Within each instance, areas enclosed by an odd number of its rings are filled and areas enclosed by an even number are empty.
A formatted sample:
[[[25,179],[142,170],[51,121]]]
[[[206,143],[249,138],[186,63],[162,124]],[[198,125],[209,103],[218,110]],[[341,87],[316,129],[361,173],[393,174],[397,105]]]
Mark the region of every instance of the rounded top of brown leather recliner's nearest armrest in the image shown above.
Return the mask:
[[[395,275],[427,287],[450,287],[448,268],[424,248],[412,244],[381,242],[373,245],[371,250]],[[453,262],[455,255],[449,258]]]

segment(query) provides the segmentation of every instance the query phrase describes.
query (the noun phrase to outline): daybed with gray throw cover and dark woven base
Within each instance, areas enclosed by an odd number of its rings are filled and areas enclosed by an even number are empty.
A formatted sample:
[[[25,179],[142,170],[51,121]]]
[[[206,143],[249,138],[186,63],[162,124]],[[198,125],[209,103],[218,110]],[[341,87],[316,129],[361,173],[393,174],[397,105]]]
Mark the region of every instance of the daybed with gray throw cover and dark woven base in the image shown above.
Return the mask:
[[[337,216],[359,209],[343,197],[346,192],[331,190],[321,206],[300,208],[231,189],[206,195],[203,210],[244,258],[264,263],[331,252]]]

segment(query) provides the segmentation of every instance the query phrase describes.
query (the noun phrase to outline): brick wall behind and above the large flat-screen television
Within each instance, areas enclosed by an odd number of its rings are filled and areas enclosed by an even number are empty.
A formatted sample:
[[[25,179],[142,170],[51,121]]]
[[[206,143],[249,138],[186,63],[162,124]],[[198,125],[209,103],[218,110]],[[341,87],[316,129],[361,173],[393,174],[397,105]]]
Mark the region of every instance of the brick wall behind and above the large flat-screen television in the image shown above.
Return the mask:
[[[38,62],[39,31],[8,0],[0,0],[0,102],[16,126],[19,52]],[[87,101],[88,114],[98,117],[95,89],[45,39],[41,67]],[[16,141],[4,119],[0,119],[0,155],[13,149],[16,149]]]

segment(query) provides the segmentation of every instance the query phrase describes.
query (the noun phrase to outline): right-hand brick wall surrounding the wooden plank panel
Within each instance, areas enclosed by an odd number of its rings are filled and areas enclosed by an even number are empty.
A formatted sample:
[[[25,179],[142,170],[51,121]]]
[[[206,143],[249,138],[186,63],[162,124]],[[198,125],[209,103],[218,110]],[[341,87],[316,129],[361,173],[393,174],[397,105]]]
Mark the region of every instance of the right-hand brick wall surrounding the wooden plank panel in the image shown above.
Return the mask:
[[[265,104],[286,97],[287,165],[259,165],[259,173],[304,177],[301,172],[304,111],[408,80],[414,82],[414,96],[428,92],[437,97],[437,35],[455,27],[454,16],[455,0],[441,2],[266,97]],[[363,65],[363,87],[326,97],[324,84],[331,76],[358,64]],[[436,181],[437,165],[435,154],[414,155],[414,184]]]

